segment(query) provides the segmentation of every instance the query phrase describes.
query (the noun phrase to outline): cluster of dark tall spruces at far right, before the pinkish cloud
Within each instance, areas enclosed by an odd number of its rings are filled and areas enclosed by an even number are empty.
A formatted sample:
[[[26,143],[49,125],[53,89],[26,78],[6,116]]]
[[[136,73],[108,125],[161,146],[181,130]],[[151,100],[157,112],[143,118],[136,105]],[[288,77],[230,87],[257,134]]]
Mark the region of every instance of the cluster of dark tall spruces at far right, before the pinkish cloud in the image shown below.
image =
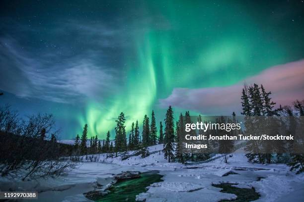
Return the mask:
[[[263,128],[271,128],[269,133],[280,134],[280,131],[275,129],[279,128],[282,122],[272,121],[267,122],[267,119],[260,117],[288,117],[287,123],[284,123],[284,129],[286,134],[295,134],[297,128],[303,129],[301,121],[297,122],[295,117],[304,116],[304,101],[294,101],[293,106],[281,106],[274,108],[275,102],[272,101],[271,92],[266,92],[263,85],[258,86],[253,84],[252,86],[244,85],[242,89],[241,104],[242,104],[242,115],[245,115],[248,121],[245,121],[245,127],[248,130],[258,130],[259,125],[263,125]],[[302,117],[303,118],[303,117]],[[278,119],[282,120],[282,119]],[[263,121],[260,123],[260,121]],[[255,123],[253,125],[252,123]],[[264,131],[265,132],[265,131]],[[303,131],[302,131],[303,133]],[[300,137],[303,139],[303,137]],[[247,144],[245,150],[248,152],[246,157],[249,162],[255,163],[271,163],[281,162],[287,163],[291,166],[291,170],[297,170],[297,173],[304,171],[304,154],[290,153],[289,147],[292,147],[293,142],[286,143],[284,141],[278,142],[278,144],[271,144],[270,141],[250,141]],[[263,148],[269,150],[266,153],[257,153],[255,148]],[[302,146],[303,147],[303,146]],[[278,151],[278,152],[275,152]]]

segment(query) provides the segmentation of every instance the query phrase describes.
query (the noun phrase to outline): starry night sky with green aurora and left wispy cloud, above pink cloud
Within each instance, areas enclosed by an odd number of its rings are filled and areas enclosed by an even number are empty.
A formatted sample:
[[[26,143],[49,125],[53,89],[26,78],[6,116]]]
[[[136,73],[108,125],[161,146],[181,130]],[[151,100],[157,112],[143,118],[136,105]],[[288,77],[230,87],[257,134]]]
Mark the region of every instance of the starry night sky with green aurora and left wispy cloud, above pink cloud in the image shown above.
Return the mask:
[[[1,102],[22,114],[53,113],[63,139],[80,134],[85,123],[90,136],[104,138],[121,111],[127,126],[152,109],[159,122],[166,110],[160,103],[173,104],[174,89],[226,88],[304,58],[301,0],[1,1],[0,7]],[[176,114],[188,109],[175,102]]]

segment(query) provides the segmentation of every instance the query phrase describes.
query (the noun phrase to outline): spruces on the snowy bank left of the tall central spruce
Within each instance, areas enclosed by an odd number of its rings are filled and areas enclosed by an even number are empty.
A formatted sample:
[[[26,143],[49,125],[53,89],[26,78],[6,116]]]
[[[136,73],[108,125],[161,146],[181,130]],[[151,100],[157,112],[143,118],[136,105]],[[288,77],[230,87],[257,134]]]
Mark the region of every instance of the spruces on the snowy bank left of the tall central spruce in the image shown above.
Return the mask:
[[[128,151],[138,151],[142,157],[149,155],[148,147],[156,144],[163,143],[163,132],[162,132],[162,122],[159,123],[159,135],[157,135],[157,127],[155,121],[154,111],[152,110],[151,122],[147,115],[144,116],[143,120],[143,130],[142,133],[139,131],[138,120],[131,125],[131,131],[129,132],[127,140],[127,131],[125,126],[125,114],[121,112],[116,120],[115,127],[115,138],[114,141],[110,141],[110,131],[106,134],[106,139],[101,143],[98,140],[97,135],[91,137],[88,142],[87,137],[87,124],[84,125],[82,135],[76,135],[75,138],[75,151],[78,155],[96,154],[96,153],[109,153],[112,157],[118,153],[123,153],[126,157]],[[113,144],[114,142],[114,144]]]

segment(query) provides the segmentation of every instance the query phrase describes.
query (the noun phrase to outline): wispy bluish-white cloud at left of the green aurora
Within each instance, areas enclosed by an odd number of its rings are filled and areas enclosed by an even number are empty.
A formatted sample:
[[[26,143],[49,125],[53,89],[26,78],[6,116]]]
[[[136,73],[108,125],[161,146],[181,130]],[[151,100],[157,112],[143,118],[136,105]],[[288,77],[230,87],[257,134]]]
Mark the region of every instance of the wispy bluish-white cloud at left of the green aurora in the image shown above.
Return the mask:
[[[9,37],[0,38],[0,50],[0,89],[21,98],[63,103],[100,100],[116,86],[116,71],[97,64],[94,54],[35,57]]]

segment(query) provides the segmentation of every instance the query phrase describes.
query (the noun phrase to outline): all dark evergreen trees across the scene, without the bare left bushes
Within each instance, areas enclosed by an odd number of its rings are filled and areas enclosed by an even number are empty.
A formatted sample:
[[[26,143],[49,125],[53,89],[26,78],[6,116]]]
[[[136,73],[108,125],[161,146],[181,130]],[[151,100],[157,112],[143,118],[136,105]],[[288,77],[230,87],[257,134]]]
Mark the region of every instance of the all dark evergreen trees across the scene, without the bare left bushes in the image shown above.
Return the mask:
[[[268,92],[263,85],[253,84],[251,86],[244,85],[241,91],[241,114],[244,115],[245,120],[244,125],[245,128],[253,127],[250,122],[252,122],[252,118],[255,117],[272,117],[272,116],[287,116],[290,117],[290,122],[288,124],[287,129],[290,133],[294,133],[296,129],[299,127],[303,127],[296,122],[297,117],[304,116],[304,101],[295,101],[292,106],[280,106],[275,108],[275,102],[271,98],[271,92]],[[2,114],[4,112],[8,112],[7,108],[2,108]],[[13,116],[13,115],[12,115]],[[236,123],[236,114],[232,113],[232,118],[228,118],[225,120],[223,116],[219,117],[216,122],[217,123]],[[49,120],[50,117],[44,117]],[[30,121],[39,122],[43,117],[37,116],[32,117]],[[250,120],[250,121],[249,121]],[[193,120],[194,122],[203,122],[202,116],[197,116],[197,120]],[[42,122],[42,121],[41,121]],[[162,153],[165,159],[168,162],[181,162],[185,163],[187,161],[204,161],[208,160],[215,153],[224,154],[225,162],[228,163],[227,154],[233,152],[234,142],[231,140],[220,141],[220,142],[208,142],[205,141],[203,144],[207,144],[208,149],[204,150],[201,153],[195,153],[192,149],[187,149],[187,151],[182,149],[182,142],[180,137],[185,135],[185,124],[191,124],[191,115],[189,111],[186,111],[183,115],[180,113],[175,119],[173,108],[169,106],[166,110],[164,119],[162,121],[157,122],[155,119],[154,110],[152,110],[151,116],[145,115],[142,121],[136,120],[132,122],[131,128],[128,129],[126,127],[126,116],[124,112],[121,112],[117,119],[115,120],[116,127],[114,133],[112,134],[110,131],[107,131],[105,134],[105,139],[100,140],[98,136],[88,137],[89,134],[89,126],[84,124],[82,129],[82,134],[76,135],[75,143],[69,151],[72,151],[72,155],[76,156],[75,161],[81,160],[79,156],[85,157],[86,159],[91,159],[90,155],[105,153],[107,157],[117,157],[122,156],[122,159],[128,158],[130,155],[140,155],[142,158],[145,158],[150,155],[149,148],[153,145],[162,144]],[[255,124],[258,120],[255,120]],[[140,126],[142,123],[142,127]],[[156,125],[156,123],[158,123]],[[10,131],[10,133],[15,134],[17,131],[13,131],[10,126],[6,131]],[[16,122],[17,124],[17,122]],[[37,123],[38,124],[38,123]],[[40,122],[39,122],[40,124]],[[264,125],[268,124],[267,122],[263,123]],[[3,125],[3,124],[2,124]],[[39,141],[48,141],[53,143],[54,146],[50,148],[57,148],[55,146],[57,144],[56,133],[50,133],[48,129],[49,126],[43,126],[37,132],[37,138]],[[141,128],[140,128],[141,127]],[[274,131],[277,132],[277,131]],[[235,136],[235,131],[228,132],[227,131],[210,131],[212,135],[223,136],[224,134],[228,134],[229,136]],[[49,134],[49,135],[48,135]],[[191,130],[190,136],[196,136],[197,134],[204,134],[204,131],[195,131]],[[297,173],[304,171],[304,154],[301,153],[291,153],[288,151],[288,148],[284,148],[286,152],[266,152],[266,153],[258,153],[255,152],[254,148],[257,147],[257,142],[251,141],[246,145],[245,151],[246,157],[249,162],[253,163],[286,163],[291,167],[291,170],[295,170]],[[280,147],[272,146],[267,141],[264,141],[262,145],[258,145],[259,147],[270,148],[271,151],[275,151]],[[282,148],[284,145],[281,145]],[[279,148],[282,150],[282,148]],[[134,152],[129,152],[134,151]],[[131,153],[131,154],[129,154]],[[71,155],[71,154],[70,154]],[[82,158],[81,157],[81,158]],[[91,159],[94,160],[94,159]]]

